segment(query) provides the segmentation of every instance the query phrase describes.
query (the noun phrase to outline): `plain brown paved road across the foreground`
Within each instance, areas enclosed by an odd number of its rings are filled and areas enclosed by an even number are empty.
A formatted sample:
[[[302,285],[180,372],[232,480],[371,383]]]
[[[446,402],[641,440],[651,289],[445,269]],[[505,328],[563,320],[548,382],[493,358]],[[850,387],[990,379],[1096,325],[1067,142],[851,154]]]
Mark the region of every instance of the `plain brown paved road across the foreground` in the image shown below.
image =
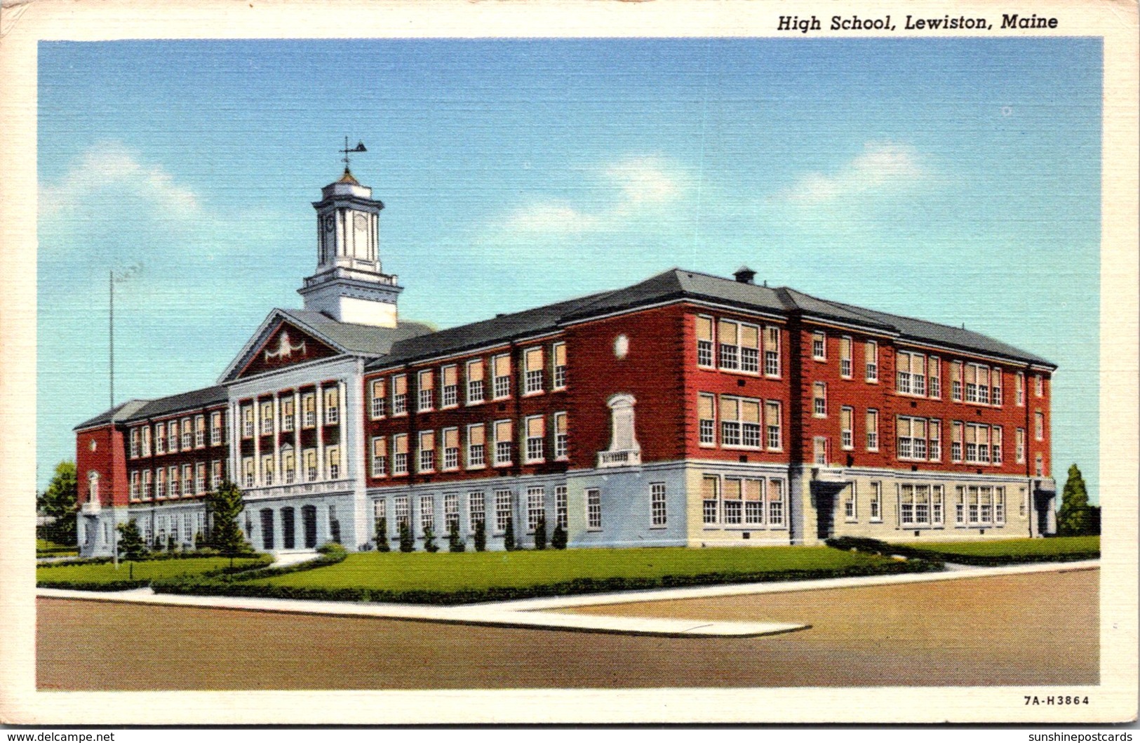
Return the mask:
[[[1097,684],[1099,571],[618,604],[795,621],[657,638],[38,599],[42,689]]]

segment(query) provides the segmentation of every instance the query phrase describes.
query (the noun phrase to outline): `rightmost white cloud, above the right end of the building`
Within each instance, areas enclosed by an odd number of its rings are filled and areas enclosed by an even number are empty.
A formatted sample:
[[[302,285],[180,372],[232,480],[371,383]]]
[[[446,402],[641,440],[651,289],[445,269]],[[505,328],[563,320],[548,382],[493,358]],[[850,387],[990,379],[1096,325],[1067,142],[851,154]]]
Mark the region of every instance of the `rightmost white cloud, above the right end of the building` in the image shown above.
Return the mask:
[[[781,196],[788,202],[815,206],[871,190],[907,186],[926,174],[912,147],[868,142],[860,155],[834,173],[808,173]]]

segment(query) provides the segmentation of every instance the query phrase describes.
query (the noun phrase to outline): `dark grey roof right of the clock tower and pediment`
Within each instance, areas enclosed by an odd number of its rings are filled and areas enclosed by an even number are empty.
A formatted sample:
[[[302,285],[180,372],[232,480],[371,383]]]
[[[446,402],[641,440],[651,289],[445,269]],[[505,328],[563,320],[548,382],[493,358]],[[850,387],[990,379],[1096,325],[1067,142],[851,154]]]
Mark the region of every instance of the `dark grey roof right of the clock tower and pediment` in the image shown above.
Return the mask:
[[[370,361],[367,368],[380,369],[420,359],[459,353],[552,330],[575,320],[681,299],[706,300],[782,316],[801,313],[832,319],[897,334],[903,340],[925,341],[962,351],[976,351],[1056,368],[1056,365],[1041,357],[972,330],[821,300],[790,287],[769,288],[679,268],[669,269],[644,281],[612,292],[592,294],[396,341],[388,356]],[[368,329],[375,333],[375,328]]]

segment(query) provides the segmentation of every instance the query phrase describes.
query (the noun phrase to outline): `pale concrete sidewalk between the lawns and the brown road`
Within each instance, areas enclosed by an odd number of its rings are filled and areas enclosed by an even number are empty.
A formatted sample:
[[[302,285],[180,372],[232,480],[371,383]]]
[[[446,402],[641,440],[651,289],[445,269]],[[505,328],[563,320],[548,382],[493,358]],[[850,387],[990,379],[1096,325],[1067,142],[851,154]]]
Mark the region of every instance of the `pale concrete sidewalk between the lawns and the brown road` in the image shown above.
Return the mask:
[[[311,554],[290,555],[291,558]],[[301,562],[293,560],[292,562]],[[286,564],[280,561],[279,564]],[[463,606],[427,606],[420,604],[383,604],[299,601],[287,598],[252,598],[242,596],[178,596],[155,594],[149,588],[125,591],[83,591],[56,588],[39,588],[36,595],[44,598],[72,598],[83,601],[127,602],[169,606],[199,606],[210,609],[234,609],[243,611],[285,612],[295,614],[331,614],[339,617],[372,617],[451,624],[490,624],[534,629],[557,629],[588,632],[617,632],[625,635],[654,635],[662,637],[756,637],[807,629],[807,624],[780,622],[727,622],[679,619],[650,619],[626,617],[601,617],[594,614],[551,613],[551,610],[575,606],[597,606],[604,604],[628,604],[678,598],[708,598],[712,596],[740,596],[747,594],[780,594],[800,590],[823,590],[829,588],[858,588],[887,586],[893,583],[918,583],[936,580],[968,580],[991,575],[1015,575],[1020,573],[1064,572],[1092,570],[1100,565],[1097,560],[1072,563],[1039,563],[1010,565],[1005,568],[975,568],[940,573],[906,573],[902,575],[869,575],[863,578],[833,578],[828,580],[789,581],[768,583],[740,583],[735,586],[701,586],[698,588],[668,588],[660,590],[625,591],[620,594],[589,594],[580,596],[557,596],[552,598],[526,598],[494,604],[467,604]]]

